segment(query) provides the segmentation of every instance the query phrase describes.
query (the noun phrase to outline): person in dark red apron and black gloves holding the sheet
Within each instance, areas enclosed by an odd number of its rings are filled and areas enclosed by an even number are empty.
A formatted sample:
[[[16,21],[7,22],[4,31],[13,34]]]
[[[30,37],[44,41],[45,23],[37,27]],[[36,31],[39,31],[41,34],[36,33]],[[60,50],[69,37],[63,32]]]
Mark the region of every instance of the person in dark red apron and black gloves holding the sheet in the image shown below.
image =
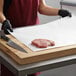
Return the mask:
[[[68,10],[48,6],[45,0],[0,0],[0,23],[5,34],[13,32],[12,28],[39,24],[38,12],[48,16],[71,17]],[[36,76],[36,73],[28,76]]]

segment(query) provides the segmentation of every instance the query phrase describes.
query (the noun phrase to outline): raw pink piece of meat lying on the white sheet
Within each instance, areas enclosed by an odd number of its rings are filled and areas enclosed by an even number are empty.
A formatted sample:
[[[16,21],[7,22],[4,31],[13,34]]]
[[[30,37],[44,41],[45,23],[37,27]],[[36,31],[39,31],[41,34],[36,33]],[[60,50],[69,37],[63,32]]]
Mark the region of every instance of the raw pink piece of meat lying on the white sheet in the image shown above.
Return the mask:
[[[55,45],[54,41],[47,39],[35,39],[31,42],[31,44],[38,48],[47,48],[48,46]]]

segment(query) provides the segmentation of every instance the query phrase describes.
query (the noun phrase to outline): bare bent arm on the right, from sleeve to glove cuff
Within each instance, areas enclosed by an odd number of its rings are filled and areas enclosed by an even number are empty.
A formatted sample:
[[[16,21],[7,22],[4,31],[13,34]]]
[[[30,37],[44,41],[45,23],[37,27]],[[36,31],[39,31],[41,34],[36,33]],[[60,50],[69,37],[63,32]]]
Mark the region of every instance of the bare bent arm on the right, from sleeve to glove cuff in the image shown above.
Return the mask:
[[[46,5],[45,0],[40,0],[39,2],[39,13],[44,15],[58,15],[58,8],[53,8],[51,6]]]

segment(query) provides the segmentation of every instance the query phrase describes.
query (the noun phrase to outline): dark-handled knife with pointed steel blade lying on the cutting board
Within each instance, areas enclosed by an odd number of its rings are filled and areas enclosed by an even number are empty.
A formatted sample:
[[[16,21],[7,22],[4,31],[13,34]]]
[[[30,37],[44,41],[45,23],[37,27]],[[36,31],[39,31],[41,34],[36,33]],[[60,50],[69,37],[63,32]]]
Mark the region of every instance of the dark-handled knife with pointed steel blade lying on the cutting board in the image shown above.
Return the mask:
[[[27,51],[26,50],[24,50],[21,46],[19,46],[18,44],[16,44],[15,42],[13,42],[10,38],[8,38],[6,35],[5,35],[5,33],[4,33],[4,31],[3,30],[1,30],[1,33],[0,33],[1,35],[1,38],[2,39],[4,39],[5,41],[7,41],[7,45],[8,46],[10,46],[10,47],[12,47],[12,48],[14,48],[14,49],[17,49],[17,50],[19,50],[19,51],[21,51],[21,52],[25,52],[25,53],[27,53]]]

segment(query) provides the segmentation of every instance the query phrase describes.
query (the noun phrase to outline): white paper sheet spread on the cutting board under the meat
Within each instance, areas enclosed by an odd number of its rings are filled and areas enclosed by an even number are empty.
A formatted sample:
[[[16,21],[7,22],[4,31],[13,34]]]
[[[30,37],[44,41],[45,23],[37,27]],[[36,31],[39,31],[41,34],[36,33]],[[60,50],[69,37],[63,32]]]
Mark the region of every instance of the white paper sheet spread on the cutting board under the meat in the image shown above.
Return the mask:
[[[12,35],[33,51],[43,50],[31,45],[31,41],[38,38],[55,41],[56,45],[54,47],[76,44],[76,17],[66,17],[33,27],[17,28],[14,29]]]

